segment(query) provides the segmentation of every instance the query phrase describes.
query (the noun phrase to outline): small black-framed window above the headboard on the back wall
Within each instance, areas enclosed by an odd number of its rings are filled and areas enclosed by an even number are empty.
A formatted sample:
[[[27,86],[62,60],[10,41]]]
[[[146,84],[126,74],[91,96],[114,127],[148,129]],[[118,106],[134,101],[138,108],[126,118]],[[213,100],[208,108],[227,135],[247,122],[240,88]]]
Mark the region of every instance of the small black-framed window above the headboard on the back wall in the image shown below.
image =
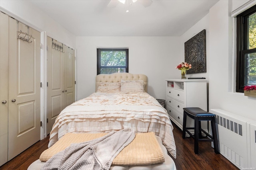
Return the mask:
[[[128,49],[97,49],[97,75],[128,72]]]

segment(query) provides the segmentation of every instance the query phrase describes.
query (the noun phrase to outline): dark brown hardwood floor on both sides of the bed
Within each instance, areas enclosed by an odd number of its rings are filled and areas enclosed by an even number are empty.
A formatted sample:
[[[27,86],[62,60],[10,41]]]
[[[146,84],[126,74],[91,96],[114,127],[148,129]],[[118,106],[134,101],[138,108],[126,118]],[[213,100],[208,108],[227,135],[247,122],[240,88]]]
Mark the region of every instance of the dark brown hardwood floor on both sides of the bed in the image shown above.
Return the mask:
[[[177,170],[238,170],[224,156],[215,154],[210,142],[200,142],[199,154],[194,154],[194,139],[182,139],[182,131],[175,124],[173,133],[177,148],[177,158],[173,160]],[[26,170],[48,148],[48,141],[49,135],[0,166],[0,170]]]

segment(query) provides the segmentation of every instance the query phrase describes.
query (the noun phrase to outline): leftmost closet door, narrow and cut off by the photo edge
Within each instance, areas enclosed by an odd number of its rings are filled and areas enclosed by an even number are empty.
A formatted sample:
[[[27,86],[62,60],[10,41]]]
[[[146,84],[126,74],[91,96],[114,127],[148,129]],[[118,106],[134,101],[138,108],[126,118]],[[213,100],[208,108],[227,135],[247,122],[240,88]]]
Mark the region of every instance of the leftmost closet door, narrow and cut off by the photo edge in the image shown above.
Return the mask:
[[[0,12],[0,166],[8,161],[8,20]]]

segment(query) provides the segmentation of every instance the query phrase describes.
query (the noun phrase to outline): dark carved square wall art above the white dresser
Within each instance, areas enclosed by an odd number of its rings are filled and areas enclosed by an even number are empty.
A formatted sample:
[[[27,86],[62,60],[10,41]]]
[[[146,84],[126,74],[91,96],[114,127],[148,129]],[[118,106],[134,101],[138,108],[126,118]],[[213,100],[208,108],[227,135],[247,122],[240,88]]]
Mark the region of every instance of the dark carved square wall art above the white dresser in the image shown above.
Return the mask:
[[[185,43],[185,62],[192,64],[187,74],[206,72],[206,31],[202,30]]]

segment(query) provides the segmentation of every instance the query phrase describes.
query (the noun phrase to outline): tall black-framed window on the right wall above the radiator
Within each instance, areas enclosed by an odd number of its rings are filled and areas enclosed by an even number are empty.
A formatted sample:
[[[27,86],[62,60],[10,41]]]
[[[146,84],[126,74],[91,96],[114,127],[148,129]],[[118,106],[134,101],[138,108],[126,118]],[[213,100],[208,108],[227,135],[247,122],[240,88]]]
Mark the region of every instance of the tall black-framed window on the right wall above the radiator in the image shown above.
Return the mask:
[[[256,84],[256,5],[237,16],[236,92]]]

